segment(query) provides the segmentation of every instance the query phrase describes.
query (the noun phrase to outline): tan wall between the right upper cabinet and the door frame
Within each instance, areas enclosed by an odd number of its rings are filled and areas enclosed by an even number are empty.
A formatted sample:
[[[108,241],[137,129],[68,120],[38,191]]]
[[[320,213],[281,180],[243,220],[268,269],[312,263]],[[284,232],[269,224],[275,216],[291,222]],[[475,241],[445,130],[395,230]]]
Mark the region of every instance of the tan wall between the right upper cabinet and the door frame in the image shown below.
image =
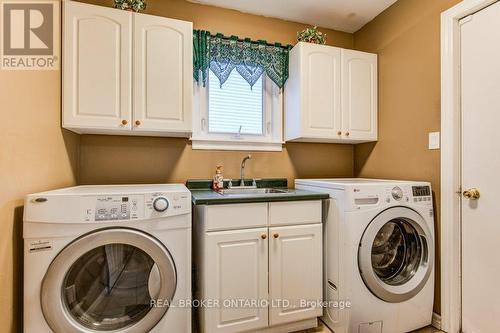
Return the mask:
[[[355,147],[355,175],[432,182],[440,200],[440,13],[459,0],[400,0],[354,35],[356,49],[379,55],[379,141]],[[436,214],[439,240],[439,214]],[[436,297],[440,313],[439,242]]]

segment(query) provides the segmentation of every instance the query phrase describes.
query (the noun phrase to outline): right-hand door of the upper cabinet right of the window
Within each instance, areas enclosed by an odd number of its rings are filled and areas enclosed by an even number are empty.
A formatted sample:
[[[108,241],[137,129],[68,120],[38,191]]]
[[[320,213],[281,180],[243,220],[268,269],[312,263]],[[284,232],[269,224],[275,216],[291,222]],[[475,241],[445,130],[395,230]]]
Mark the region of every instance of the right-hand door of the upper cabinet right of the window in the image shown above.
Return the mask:
[[[377,55],[342,50],[342,136],[377,140]]]

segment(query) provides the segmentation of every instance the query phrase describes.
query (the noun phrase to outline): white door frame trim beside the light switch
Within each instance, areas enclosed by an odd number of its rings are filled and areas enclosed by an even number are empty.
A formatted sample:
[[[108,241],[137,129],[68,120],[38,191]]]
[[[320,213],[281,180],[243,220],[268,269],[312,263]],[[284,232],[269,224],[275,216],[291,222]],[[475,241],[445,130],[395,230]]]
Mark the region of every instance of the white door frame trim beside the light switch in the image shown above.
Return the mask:
[[[441,329],[461,332],[461,85],[459,20],[498,0],[463,0],[441,14]]]

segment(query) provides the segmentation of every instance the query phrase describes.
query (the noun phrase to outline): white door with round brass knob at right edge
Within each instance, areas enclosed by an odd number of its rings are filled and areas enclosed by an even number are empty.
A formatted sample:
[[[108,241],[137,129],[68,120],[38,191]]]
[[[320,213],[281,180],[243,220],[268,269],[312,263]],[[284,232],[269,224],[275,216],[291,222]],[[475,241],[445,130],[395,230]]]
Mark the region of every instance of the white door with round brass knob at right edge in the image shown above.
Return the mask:
[[[500,3],[461,22],[462,329],[500,332]]]

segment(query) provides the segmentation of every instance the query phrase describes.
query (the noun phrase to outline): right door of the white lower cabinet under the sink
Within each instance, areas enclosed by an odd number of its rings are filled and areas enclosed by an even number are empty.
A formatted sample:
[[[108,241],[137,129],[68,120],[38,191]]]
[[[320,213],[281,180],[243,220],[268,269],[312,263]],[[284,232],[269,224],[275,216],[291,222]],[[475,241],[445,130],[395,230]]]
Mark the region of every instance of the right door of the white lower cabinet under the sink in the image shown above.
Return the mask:
[[[322,258],[321,224],[269,229],[271,326],[322,315],[319,304],[304,302],[323,298]]]

